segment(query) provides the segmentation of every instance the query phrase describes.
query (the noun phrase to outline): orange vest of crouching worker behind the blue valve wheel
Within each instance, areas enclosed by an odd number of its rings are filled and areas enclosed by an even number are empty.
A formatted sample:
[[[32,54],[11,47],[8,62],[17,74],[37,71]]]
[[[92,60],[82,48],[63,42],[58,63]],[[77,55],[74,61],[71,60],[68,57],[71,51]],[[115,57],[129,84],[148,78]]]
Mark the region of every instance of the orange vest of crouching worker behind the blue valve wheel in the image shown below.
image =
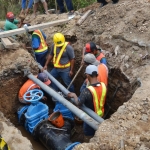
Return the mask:
[[[37,84],[35,84],[32,80],[28,79],[19,91],[18,97],[19,97],[20,102],[23,101],[23,95],[27,91],[33,90],[33,89],[40,89],[40,87]]]

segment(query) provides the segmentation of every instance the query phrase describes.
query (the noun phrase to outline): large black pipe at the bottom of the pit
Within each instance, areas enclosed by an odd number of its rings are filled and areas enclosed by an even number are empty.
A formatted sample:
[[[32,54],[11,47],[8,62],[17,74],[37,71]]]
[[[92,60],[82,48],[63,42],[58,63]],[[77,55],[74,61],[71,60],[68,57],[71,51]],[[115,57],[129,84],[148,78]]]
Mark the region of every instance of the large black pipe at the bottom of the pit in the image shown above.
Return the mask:
[[[33,136],[38,138],[48,150],[65,150],[72,144],[70,135],[74,123],[68,118],[64,118],[64,122],[62,128],[57,128],[48,120],[44,120],[35,127]]]

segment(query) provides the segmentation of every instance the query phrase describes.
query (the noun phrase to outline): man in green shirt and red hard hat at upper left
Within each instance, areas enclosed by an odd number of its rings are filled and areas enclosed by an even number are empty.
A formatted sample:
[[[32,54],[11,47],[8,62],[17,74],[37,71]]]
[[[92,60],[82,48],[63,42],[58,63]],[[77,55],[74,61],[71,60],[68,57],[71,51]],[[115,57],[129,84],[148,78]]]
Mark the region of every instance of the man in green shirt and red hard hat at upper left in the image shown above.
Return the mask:
[[[5,31],[20,28],[22,25],[23,25],[23,19],[21,19],[21,21],[15,19],[15,16],[12,12],[8,12],[6,14],[6,22],[4,25]]]

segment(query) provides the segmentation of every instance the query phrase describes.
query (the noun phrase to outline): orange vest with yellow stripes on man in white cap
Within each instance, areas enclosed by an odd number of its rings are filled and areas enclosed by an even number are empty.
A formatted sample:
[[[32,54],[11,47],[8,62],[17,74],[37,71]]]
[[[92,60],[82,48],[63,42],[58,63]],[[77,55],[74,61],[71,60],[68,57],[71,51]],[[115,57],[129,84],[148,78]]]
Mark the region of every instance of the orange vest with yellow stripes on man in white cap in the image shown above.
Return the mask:
[[[101,82],[100,86],[89,86],[88,89],[90,90],[93,96],[94,111],[102,117],[104,115],[106,86],[103,82]]]

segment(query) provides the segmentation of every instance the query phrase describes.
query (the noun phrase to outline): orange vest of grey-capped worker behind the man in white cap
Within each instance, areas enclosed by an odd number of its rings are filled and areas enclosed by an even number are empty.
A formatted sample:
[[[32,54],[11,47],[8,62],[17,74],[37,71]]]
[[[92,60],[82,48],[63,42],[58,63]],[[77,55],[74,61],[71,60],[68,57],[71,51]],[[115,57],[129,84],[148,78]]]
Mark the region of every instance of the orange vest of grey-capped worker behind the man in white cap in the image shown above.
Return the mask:
[[[108,84],[108,68],[105,64],[101,63],[98,65],[98,77],[99,82],[105,83],[106,87]]]

